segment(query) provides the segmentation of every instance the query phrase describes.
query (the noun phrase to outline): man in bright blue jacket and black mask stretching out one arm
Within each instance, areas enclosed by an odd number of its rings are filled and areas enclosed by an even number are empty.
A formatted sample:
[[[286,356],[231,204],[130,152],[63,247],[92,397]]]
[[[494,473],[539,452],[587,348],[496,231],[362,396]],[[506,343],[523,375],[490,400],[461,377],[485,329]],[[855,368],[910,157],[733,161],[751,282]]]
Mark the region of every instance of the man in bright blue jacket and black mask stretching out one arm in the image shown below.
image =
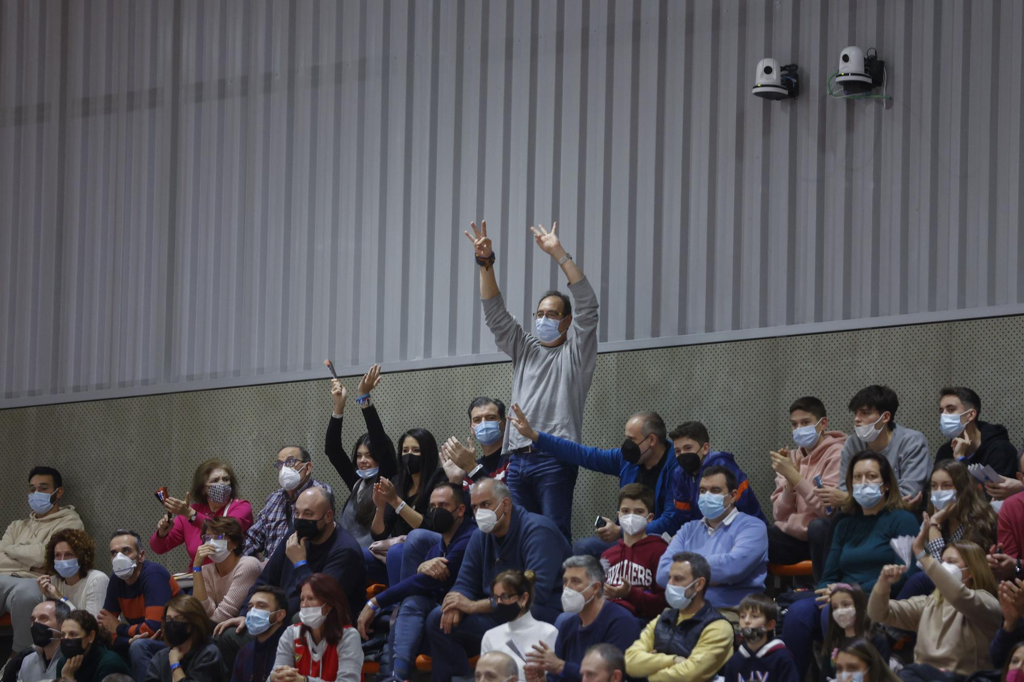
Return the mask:
[[[673,487],[676,469],[676,453],[669,440],[665,420],[656,412],[638,412],[629,418],[623,429],[626,436],[620,447],[602,450],[581,445],[567,438],[559,438],[550,433],[536,430],[526,421],[526,416],[518,404],[512,406],[515,417],[510,421],[519,433],[529,438],[538,450],[550,453],[560,462],[618,476],[618,487],[629,483],[643,483],[654,491],[654,507],[650,510],[654,518],[646,523],[647,535],[674,536],[682,525],[682,511],[676,508]],[[622,527],[620,519],[602,516],[604,524],[596,535],[578,540],[572,545],[573,554],[601,556],[601,553],[618,542]],[[635,530],[632,532],[636,532]]]

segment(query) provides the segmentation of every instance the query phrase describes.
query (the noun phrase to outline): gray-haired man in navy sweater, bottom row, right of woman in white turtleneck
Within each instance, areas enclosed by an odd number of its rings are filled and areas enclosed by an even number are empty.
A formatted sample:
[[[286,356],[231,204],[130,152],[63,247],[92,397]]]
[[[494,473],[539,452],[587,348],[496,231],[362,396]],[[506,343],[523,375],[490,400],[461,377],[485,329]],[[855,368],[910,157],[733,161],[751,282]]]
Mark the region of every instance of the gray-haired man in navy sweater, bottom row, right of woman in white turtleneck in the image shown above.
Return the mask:
[[[604,568],[596,557],[570,556],[562,568],[562,609],[565,612],[555,623],[558,639],[554,649],[540,642],[526,653],[527,678],[543,671],[549,680],[579,680],[580,666],[589,647],[607,643],[625,649],[640,634],[633,614],[605,599]]]

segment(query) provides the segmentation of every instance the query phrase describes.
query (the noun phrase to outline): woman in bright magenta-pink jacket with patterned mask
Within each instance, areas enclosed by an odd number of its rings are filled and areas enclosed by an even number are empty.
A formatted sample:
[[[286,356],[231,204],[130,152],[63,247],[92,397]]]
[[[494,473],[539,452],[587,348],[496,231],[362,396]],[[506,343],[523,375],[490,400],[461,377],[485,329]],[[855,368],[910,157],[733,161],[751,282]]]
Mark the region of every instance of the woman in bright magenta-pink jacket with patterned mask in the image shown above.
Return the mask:
[[[239,482],[229,464],[207,460],[199,465],[185,499],[168,497],[164,500],[168,513],[160,517],[157,530],[150,538],[150,548],[157,554],[163,554],[184,543],[188,551],[187,570],[190,570],[196,550],[203,544],[203,524],[208,519],[231,516],[242,525],[243,536],[253,524],[252,505],[238,499],[238,493]],[[195,502],[189,504],[189,499]]]

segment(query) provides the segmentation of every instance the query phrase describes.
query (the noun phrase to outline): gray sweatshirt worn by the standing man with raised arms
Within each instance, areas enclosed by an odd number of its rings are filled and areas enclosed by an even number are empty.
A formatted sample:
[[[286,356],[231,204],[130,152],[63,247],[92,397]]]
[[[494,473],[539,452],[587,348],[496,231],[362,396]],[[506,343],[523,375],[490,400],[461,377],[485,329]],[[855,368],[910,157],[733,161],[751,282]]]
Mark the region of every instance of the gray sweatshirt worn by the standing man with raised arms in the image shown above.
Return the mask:
[[[597,365],[597,294],[587,278],[569,285],[572,334],[555,348],[542,346],[505,308],[501,294],[483,301],[483,318],[495,343],[512,358],[512,403],[530,426],[580,441],[583,409]],[[532,331],[532,326],[530,327]],[[505,429],[503,452],[530,445],[516,429]]]

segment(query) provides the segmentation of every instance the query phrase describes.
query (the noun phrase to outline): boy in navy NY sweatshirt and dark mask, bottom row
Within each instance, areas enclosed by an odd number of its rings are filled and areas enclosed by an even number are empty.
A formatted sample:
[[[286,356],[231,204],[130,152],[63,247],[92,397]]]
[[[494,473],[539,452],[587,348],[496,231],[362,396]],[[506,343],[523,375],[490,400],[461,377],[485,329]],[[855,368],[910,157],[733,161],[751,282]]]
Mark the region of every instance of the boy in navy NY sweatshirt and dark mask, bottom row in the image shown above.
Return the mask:
[[[743,643],[725,665],[726,682],[771,680],[799,682],[793,654],[774,634],[778,606],[764,594],[749,594],[739,602],[739,634]]]

